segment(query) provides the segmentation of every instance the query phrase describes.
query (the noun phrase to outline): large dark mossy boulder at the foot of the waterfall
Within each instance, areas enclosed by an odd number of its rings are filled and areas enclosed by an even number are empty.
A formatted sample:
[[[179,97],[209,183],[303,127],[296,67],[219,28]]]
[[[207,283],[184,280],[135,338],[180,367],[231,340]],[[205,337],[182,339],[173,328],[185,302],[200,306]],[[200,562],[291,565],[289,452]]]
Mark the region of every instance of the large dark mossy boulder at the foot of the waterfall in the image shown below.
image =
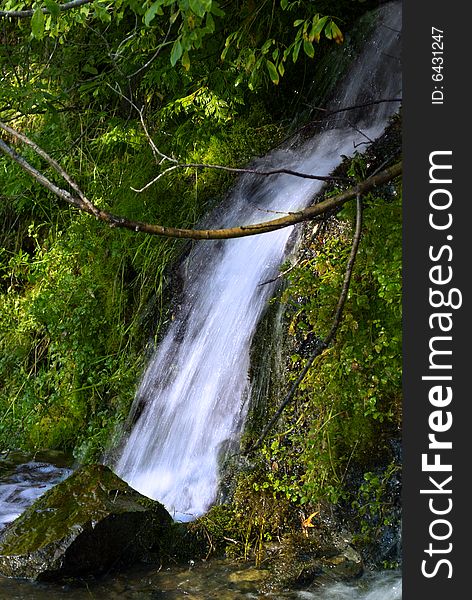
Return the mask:
[[[103,465],[87,465],[46,492],[0,540],[0,573],[38,580],[98,575],[156,557],[172,518]]]

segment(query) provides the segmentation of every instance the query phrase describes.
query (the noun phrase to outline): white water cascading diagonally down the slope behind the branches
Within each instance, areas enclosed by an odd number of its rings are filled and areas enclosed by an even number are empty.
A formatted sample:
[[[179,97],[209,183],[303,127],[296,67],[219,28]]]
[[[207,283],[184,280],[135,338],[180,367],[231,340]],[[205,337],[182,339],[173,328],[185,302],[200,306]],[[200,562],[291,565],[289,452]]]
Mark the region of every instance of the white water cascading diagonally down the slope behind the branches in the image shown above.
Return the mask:
[[[380,25],[338,94],[337,105],[398,97],[401,7],[383,7]],[[385,26],[386,25],[386,26]],[[342,155],[375,139],[398,104],[370,107],[352,125],[323,131],[296,151],[279,150],[263,168],[329,175]],[[289,175],[240,180],[209,227],[276,218],[305,207],[320,182]],[[114,470],[178,518],[193,518],[215,500],[221,452],[237,440],[248,405],[249,349],[273,292],[292,228],[224,242],[199,242],[183,266],[180,312],[157,348],[135,403],[141,413]],[[135,407],[135,411],[138,408]]]

